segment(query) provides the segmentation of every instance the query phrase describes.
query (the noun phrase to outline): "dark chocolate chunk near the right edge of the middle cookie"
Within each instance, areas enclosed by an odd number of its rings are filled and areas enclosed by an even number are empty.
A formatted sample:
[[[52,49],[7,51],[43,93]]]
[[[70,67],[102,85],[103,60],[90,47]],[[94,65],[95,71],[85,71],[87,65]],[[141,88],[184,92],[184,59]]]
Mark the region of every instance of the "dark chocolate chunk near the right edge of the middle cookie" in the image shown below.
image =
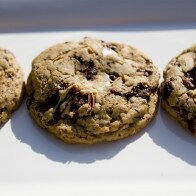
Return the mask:
[[[124,96],[127,100],[131,97],[141,97],[142,99],[149,101],[150,90],[148,87],[145,87],[142,83],[140,83],[138,86],[133,87],[130,92],[125,93]]]

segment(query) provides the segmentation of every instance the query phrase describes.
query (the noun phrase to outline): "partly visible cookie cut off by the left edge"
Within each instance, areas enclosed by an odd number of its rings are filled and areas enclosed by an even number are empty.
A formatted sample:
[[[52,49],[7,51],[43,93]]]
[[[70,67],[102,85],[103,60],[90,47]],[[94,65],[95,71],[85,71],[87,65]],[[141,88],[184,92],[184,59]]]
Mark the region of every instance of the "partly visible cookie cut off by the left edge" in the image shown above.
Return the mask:
[[[0,48],[0,124],[5,123],[24,97],[23,71],[14,55]]]

